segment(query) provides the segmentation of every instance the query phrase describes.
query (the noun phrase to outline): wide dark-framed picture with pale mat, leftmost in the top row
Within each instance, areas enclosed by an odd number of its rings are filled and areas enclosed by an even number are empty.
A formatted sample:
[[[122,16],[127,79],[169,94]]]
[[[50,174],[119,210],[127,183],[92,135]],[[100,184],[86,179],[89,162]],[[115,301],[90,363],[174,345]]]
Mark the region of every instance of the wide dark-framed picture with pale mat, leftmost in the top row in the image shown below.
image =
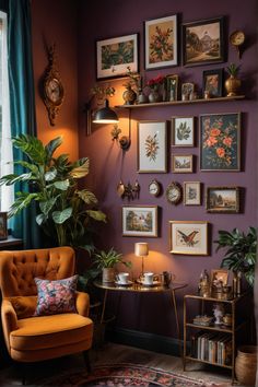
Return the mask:
[[[127,77],[128,67],[138,72],[138,34],[96,42],[97,79]]]

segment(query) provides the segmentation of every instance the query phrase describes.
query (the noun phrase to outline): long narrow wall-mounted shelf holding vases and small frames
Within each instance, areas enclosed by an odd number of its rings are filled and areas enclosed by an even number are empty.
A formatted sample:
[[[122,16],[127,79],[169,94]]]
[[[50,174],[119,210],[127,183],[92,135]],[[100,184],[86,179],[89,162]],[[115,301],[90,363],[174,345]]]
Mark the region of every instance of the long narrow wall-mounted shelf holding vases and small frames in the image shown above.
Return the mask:
[[[244,99],[245,95],[236,95],[230,97],[218,97],[218,98],[199,98],[194,101],[168,101],[168,102],[156,102],[156,103],[148,103],[148,104],[138,104],[138,105],[116,105],[115,107],[127,108],[127,109],[138,109],[141,107],[152,107],[152,106],[171,106],[171,105],[190,105],[190,104],[202,104],[202,103],[212,103],[212,102],[227,102],[227,101],[236,101],[236,99]]]

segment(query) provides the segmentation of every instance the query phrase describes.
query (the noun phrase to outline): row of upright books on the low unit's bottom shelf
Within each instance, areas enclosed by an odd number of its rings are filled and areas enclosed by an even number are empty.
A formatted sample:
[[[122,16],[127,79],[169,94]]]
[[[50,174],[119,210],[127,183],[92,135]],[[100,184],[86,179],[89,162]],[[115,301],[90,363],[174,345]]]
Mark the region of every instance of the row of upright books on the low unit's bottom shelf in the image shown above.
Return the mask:
[[[232,339],[228,335],[200,331],[191,337],[191,356],[220,365],[232,364]]]

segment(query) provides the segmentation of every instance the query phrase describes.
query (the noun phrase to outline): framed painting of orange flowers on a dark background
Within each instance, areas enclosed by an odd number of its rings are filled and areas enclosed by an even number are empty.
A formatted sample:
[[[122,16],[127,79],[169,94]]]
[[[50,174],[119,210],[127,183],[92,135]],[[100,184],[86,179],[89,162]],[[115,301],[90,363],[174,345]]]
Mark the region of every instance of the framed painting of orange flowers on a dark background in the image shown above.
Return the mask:
[[[241,114],[200,116],[201,171],[241,169]]]

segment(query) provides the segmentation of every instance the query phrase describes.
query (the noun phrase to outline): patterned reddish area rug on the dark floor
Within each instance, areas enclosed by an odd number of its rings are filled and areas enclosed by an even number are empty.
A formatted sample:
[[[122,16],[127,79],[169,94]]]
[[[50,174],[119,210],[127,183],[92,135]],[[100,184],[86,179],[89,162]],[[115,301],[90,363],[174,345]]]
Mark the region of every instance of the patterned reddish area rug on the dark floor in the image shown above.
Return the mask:
[[[163,371],[154,367],[145,367],[136,364],[104,364],[94,367],[92,373],[75,372],[48,380],[44,386],[95,386],[95,387],[195,387],[216,386],[196,380],[190,377]]]

